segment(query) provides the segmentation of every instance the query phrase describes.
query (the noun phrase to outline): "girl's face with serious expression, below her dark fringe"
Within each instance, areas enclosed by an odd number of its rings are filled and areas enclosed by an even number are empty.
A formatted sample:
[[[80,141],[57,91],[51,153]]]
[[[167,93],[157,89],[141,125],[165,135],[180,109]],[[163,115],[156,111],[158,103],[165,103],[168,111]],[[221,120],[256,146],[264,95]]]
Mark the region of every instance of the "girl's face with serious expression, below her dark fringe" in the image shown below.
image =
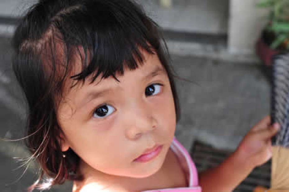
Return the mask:
[[[62,150],[70,147],[79,155],[84,174],[143,178],[161,168],[175,132],[174,99],[158,56],[144,53],[144,58],[139,68],[117,76],[119,82],[88,79],[61,102]],[[138,158],[155,146],[160,147]]]

